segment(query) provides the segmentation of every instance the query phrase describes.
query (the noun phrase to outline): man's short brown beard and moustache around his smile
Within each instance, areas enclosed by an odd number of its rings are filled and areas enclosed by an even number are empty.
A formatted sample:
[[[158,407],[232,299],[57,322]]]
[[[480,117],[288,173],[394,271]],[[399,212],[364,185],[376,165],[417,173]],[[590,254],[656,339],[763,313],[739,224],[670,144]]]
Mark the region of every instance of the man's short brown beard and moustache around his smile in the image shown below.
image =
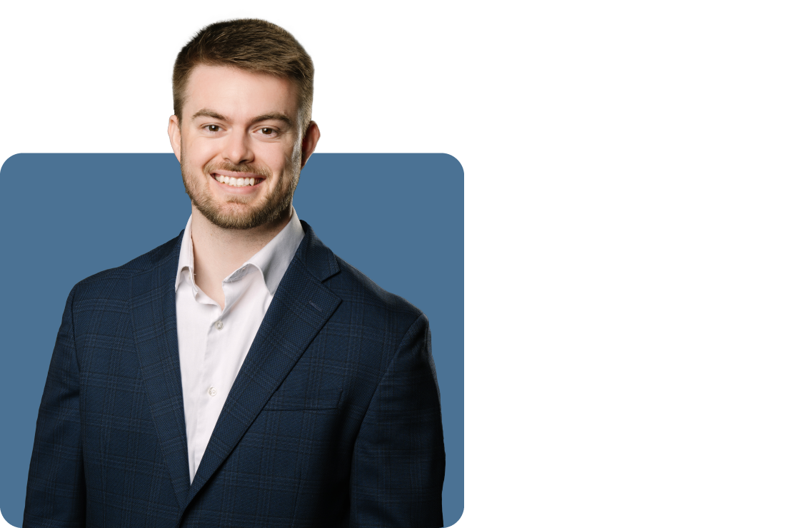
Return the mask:
[[[198,185],[195,176],[185,174],[183,164],[182,181],[185,184],[185,192],[191,197],[191,202],[196,206],[198,212],[222,229],[253,229],[260,225],[275,225],[283,218],[289,216],[292,208],[292,196],[295,194],[295,187],[298,186],[299,175],[292,174],[289,178],[279,179],[278,187],[272,191],[272,195],[258,208],[246,208],[249,202],[247,196],[232,196],[226,198],[225,204],[214,202],[210,191],[206,187]],[[203,177],[211,178],[210,174],[218,170],[230,172],[251,172],[267,181],[272,178],[272,172],[266,167],[256,167],[254,165],[234,165],[234,164],[210,164],[204,168]],[[285,171],[284,176],[289,175]],[[265,182],[260,183],[264,185]],[[223,205],[241,204],[232,206],[234,212],[224,211]],[[228,207],[227,207],[228,209]]]

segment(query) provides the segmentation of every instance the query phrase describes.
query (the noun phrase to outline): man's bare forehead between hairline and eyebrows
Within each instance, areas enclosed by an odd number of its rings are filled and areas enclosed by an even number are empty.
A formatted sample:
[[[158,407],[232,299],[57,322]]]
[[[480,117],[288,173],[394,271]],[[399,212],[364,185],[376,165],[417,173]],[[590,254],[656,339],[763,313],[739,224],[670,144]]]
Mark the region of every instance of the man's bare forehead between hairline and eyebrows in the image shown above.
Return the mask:
[[[298,89],[291,79],[236,67],[199,64],[191,71],[185,92],[186,116],[202,109],[238,118],[298,112]]]

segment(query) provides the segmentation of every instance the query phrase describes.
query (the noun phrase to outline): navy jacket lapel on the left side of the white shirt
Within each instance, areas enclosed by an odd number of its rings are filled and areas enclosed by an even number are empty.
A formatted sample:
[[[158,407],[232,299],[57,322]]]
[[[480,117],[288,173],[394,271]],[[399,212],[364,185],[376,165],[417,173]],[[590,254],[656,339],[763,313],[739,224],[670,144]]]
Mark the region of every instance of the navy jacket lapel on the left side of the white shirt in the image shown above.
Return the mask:
[[[160,449],[180,507],[187,504],[190,469],[179,372],[174,281],[182,234],[151,269],[130,279],[129,310],[138,363]]]

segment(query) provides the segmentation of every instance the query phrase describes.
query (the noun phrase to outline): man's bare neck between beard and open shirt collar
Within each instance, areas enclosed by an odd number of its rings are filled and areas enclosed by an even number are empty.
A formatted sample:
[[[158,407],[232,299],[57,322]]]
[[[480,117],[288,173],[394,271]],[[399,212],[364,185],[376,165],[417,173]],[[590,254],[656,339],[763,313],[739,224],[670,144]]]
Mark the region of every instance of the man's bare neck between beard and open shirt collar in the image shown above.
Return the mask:
[[[278,222],[252,229],[223,229],[195,206],[191,223],[196,286],[224,308],[223,279],[272,241],[290,222],[292,210]]]

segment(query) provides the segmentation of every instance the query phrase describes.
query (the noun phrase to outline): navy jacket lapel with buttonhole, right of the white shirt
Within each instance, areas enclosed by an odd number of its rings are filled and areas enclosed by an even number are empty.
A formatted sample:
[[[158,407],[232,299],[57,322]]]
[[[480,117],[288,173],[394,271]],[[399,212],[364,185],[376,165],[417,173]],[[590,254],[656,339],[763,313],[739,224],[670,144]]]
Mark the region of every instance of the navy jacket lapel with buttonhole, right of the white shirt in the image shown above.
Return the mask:
[[[198,465],[189,503],[229,457],[262,407],[341,303],[322,281],[339,271],[335,256],[306,222],[303,241],[268,307]],[[184,426],[183,426],[184,427]]]

